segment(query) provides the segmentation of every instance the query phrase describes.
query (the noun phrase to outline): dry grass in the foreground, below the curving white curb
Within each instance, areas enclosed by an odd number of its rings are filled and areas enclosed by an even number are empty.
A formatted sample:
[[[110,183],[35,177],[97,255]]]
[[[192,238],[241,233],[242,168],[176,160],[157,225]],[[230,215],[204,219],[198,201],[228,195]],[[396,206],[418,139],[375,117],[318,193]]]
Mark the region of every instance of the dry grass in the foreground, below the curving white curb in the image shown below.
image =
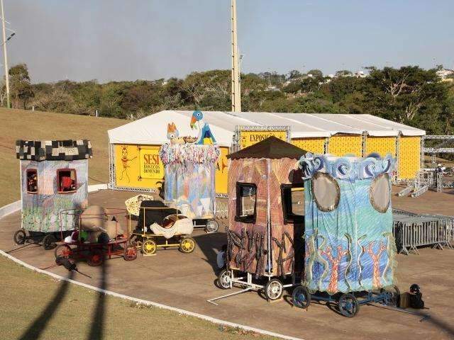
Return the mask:
[[[273,339],[136,305],[0,256],[0,339]]]

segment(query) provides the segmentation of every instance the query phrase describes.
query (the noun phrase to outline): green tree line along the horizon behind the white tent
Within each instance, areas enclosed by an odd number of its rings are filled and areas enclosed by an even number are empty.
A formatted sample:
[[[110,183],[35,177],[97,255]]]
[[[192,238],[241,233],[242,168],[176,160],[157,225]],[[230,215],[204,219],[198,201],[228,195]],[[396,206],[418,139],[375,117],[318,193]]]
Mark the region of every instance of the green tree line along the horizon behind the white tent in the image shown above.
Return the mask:
[[[241,74],[243,111],[370,113],[426,130],[454,133],[454,88],[434,69],[367,67],[326,76],[319,69]],[[26,64],[9,70],[13,108],[138,119],[162,110],[230,111],[231,71],[192,72],[184,79],[62,80],[33,84]],[[0,105],[6,106],[4,86]]]

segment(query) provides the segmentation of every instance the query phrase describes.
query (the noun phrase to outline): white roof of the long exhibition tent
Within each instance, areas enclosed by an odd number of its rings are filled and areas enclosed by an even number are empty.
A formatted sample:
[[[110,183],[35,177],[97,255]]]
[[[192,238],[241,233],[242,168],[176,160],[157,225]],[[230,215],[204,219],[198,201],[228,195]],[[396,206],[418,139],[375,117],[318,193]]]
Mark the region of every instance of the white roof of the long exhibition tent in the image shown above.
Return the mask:
[[[111,144],[161,145],[167,140],[167,124],[175,123],[180,136],[196,136],[199,130],[191,130],[189,121],[193,111],[161,111],[126,125],[109,130]],[[289,125],[292,138],[329,137],[336,133],[371,136],[426,135],[424,130],[373,115],[345,115],[333,113],[267,113],[204,111],[204,121],[219,145],[232,144],[237,125]]]

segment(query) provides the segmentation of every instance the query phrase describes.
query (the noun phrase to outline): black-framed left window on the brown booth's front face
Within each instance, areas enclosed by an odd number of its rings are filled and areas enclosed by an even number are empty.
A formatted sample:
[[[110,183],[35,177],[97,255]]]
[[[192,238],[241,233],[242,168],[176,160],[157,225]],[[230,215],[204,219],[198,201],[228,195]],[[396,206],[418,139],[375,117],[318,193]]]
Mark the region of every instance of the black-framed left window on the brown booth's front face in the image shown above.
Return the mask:
[[[236,216],[235,220],[244,223],[255,223],[257,208],[257,186],[254,183],[236,183]]]

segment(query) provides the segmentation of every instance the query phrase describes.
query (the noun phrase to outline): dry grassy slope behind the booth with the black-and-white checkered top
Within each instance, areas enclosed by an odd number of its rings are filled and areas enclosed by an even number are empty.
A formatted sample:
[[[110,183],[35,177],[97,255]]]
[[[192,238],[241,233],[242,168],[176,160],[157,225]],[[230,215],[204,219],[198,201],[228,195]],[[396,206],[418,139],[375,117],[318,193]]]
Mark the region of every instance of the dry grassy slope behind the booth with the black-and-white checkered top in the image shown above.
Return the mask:
[[[93,159],[89,160],[89,183],[107,183],[107,130],[128,123],[127,120],[115,118],[6,108],[0,108],[0,121],[0,206],[21,198],[16,140],[91,140]]]

